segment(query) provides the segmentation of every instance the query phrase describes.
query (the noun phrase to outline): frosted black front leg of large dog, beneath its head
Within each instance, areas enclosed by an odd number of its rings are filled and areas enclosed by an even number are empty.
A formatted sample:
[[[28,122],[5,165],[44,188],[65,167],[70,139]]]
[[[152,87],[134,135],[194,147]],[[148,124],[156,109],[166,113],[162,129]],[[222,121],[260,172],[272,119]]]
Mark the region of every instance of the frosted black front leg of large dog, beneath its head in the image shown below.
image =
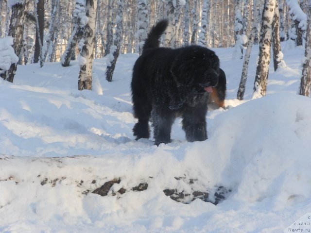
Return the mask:
[[[184,111],[182,125],[187,141],[194,142],[207,139],[206,113],[207,106],[204,105],[188,108]]]

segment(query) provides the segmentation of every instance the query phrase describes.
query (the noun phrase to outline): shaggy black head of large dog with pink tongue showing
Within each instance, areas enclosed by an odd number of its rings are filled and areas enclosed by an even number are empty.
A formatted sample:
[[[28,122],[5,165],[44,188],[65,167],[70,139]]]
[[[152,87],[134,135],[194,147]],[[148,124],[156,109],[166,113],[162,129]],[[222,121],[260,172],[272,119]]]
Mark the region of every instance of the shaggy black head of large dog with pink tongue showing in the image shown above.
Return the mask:
[[[219,59],[207,48],[189,46],[181,48],[171,67],[178,86],[190,87],[197,93],[211,92],[218,83]]]

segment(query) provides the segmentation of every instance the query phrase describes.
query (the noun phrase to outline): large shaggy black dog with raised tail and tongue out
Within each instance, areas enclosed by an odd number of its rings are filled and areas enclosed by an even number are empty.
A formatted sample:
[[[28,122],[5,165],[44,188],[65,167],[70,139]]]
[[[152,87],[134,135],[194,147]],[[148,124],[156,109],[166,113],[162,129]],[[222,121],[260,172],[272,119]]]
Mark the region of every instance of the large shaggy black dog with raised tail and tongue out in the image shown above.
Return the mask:
[[[219,59],[200,46],[158,48],[167,26],[162,20],[152,28],[133,68],[132,100],[138,118],[133,132],[136,139],[149,138],[152,117],[155,145],[169,143],[173,122],[181,116],[187,140],[204,141],[207,102],[218,82]]]

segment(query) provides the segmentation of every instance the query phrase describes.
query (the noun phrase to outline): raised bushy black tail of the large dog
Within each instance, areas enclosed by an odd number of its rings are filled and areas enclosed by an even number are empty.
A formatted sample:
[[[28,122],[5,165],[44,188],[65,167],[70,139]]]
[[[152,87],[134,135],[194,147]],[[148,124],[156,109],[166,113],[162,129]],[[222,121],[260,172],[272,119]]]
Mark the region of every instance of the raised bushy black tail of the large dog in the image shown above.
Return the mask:
[[[169,21],[167,19],[162,19],[157,24],[155,24],[155,26],[153,26],[151,31],[148,33],[147,39],[145,40],[145,44],[142,49],[145,50],[150,48],[158,48],[160,44],[160,36],[164,33],[168,25]]]

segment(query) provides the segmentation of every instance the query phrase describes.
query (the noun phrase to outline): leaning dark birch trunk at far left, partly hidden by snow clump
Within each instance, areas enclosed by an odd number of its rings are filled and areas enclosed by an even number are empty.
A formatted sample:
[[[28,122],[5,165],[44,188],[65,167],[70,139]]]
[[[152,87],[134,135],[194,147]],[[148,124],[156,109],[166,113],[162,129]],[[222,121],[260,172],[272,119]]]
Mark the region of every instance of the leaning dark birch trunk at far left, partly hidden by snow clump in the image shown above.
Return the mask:
[[[26,0],[19,0],[12,6],[12,16],[9,28],[9,36],[14,39],[13,49],[15,54],[19,56],[19,53],[23,47],[23,30],[25,21],[25,2]],[[9,70],[5,71],[1,75],[4,80],[13,83],[14,75],[17,70],[17,63],[11,65]]]

